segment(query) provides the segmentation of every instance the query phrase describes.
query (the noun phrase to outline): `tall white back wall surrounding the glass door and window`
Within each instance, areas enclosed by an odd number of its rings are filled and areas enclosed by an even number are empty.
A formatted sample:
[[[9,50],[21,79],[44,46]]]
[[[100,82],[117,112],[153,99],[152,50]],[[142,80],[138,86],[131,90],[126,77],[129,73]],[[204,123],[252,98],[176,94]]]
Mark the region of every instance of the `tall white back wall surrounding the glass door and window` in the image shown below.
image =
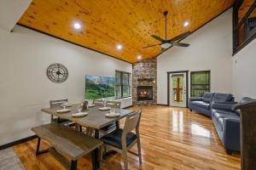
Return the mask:
[[[167,104],[167,71],[211,70],[211,91],[232,92],[232,10],[185,38],[188,48],[170,48],[157,58],[158,104]]]

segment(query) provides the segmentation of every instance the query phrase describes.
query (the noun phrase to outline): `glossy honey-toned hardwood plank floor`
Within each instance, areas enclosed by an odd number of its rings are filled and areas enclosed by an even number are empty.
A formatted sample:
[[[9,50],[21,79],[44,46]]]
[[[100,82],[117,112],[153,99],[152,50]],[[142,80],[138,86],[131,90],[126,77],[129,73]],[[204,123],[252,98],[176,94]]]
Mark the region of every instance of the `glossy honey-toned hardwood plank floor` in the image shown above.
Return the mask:
[[[136,110],[136,107],[131,108]],[[227,155],[212,120],[188,109],[167,106],[143,107],[141,120],[143,165],[128,155],[129,169],[240,169],[240,156]],[[37,140],[15,145],[14,150],[28,170],[65,169],[53,156],[35,156]],[[42,148],[47,147],[43,141]],[[134,146],[131,150],[137,152]],[[122,166],[121,154],[108,156],[114,166]],[[90,157],[79,159],[79,169],[90,169]],[[102,169],[116,169],[103,164]]]

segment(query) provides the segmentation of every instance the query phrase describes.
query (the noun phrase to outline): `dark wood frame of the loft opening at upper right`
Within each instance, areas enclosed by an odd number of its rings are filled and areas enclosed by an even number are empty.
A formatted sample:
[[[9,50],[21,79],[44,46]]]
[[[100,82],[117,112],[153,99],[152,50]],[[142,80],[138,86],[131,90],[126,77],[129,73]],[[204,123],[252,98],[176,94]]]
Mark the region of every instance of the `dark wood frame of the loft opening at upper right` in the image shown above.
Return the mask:
[[[254,0],[252,6],[247,10],[247,13],[243,16],[240,22],[238,22],[238,12],[239,8],[241,7],[243,3],[243,0],[236,0],[236,3],[233,8],[233,56],[238,53],[242,48],[246,47],[248,43],[252,42],[253,39],[256,37],[256,32],[253,33],[250,37],[247,37],[247,39],[244,42],[241,42],[239,44],[239,37],[238,32],[241,26],[245,24],[247,21],[247,18],[250,16],[250,14],[253,13],[253,11],[256,9],[256,0]]]

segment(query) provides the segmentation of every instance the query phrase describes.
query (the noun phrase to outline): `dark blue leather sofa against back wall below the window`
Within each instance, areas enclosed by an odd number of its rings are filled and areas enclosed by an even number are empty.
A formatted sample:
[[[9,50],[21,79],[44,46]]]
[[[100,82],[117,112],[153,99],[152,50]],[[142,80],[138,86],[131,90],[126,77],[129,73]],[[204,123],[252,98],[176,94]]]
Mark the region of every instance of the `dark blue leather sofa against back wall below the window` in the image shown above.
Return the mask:
[[[206,116],[212,116],[212,102],[232,103],[234,97],[232,94],[206,93],[201,98],[189,98],[189,109]]]

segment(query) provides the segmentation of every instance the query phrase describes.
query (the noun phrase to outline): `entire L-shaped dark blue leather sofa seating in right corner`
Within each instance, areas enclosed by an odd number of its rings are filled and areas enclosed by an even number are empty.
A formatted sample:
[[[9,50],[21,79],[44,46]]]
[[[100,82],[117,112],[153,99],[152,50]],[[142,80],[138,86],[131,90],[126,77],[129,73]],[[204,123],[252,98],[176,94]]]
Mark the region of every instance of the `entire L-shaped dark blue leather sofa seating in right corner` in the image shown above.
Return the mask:
[[[252,100],[246,97],[239,103]],[[228,154],[240,151],[240,111],[233,111],[236,104],[232,94],[207,93],[202,98],[189,99],[191,111],[212,117],[218,137]]]

